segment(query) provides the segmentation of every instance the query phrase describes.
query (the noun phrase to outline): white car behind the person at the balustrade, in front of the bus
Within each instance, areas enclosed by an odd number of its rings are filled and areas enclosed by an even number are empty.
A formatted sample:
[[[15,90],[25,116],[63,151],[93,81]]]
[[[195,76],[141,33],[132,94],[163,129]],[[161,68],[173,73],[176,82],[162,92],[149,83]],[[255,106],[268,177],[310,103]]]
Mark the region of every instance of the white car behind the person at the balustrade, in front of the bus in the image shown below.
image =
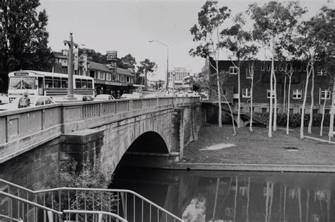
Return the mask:
[[[40,106],[40,105],[49,105],[54,104],[54,100],[49,96],[45,95],[30,95],[30,107]],[[0,111],[4,110],[18,110],[18,101],[20,97],[13,100],[11,103],[0,105]]]

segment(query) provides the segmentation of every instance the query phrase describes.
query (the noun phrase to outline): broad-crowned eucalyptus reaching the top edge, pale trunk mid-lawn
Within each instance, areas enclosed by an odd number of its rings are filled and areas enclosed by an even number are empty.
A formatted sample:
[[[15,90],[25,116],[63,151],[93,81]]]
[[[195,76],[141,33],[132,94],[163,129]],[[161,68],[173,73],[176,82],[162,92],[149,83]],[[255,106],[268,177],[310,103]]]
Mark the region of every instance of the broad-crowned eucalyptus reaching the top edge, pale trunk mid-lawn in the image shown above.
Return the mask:
[[[270,1],[264,6],[250,4],[248,13],[254,20],[254,34],[266,45],[271,52],[271,76],[270,76],[270,115],[269,115],[269,133],[272,136],[272,112],[274,112],[274,131],[276,131],[277,119],[277,95],[276,95],[276,74],[274,71],[274,60],[276,52],[281,50],[281,41],[283,36],[290,33],[298,19],[305,13],[297,1],[281,3]],[[274,98],[274,104],[273,104]],[[273,110],[274,105],[274,110]]]

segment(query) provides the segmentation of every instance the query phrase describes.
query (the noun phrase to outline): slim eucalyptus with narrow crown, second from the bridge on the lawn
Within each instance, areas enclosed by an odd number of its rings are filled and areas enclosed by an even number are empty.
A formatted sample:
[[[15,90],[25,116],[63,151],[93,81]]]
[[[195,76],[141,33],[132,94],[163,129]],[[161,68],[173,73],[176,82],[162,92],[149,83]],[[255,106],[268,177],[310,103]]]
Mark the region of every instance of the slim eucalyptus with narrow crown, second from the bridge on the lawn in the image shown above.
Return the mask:
[[[233,58],[230,57],[231,62],[237,68],[237,128],[241,127],[241,66],[245,61],[254,59],[258,52],[258,48],[254,45],[252,32],[247,30],[246,23],[244,13],[238,13],[233,18],[233,25],[230,28],[225,28],[221,32],[223,47],[227,47],[230,52],[232,52]],[[247,69],[247,72],[248,71],[249,69]]]

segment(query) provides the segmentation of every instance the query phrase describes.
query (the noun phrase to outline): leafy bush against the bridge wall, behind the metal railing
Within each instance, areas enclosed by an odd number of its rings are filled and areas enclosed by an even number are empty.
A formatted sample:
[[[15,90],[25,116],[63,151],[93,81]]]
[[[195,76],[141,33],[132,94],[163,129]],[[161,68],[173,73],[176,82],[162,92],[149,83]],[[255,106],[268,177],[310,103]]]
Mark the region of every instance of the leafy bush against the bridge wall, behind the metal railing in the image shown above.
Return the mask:
[[[69,172],[59,173],[59,185],[57,187],[78,187],[78,188],[102,188],[105,189],[112,182],[111,171],[102,168],[98,159],[93,164],[78,172],[77,163],[74,161],[69,164]],[[60,198],[60,199],[59,199]],[[113,211],[117,203],[114,195],[109,192],[83,192],[83,191],[62,191],[54,192],[52,197],[48,197],[49,204],[53,209],[59,211],[66,209]],[[71,216],[71,219],[73,219]],[[93,216],[79,214],[79,221],[93,221]]]

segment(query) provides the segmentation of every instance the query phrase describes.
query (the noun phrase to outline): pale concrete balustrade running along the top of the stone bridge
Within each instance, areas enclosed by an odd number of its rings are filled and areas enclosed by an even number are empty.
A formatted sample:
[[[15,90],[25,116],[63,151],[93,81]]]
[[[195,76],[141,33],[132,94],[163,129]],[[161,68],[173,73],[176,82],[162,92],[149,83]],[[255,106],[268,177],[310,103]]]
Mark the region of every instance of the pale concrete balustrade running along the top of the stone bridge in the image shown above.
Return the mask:
[[[61,134],[192,103],[199,98],[75,102],[0,112],[0,163]]]

